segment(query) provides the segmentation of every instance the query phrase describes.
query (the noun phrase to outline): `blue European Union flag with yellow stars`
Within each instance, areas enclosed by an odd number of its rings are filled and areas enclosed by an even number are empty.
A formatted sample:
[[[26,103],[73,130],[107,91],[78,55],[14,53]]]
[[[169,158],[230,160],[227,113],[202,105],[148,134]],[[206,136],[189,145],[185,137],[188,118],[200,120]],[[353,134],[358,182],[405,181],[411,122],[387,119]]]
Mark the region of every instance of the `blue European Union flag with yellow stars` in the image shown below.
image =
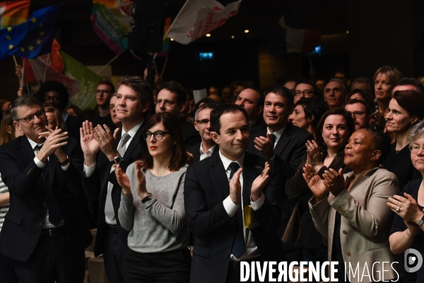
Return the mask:
[[[0,59],[16,55],[36,58],[52,50],[61,5],[35,11],[25,23],[0,30]]]

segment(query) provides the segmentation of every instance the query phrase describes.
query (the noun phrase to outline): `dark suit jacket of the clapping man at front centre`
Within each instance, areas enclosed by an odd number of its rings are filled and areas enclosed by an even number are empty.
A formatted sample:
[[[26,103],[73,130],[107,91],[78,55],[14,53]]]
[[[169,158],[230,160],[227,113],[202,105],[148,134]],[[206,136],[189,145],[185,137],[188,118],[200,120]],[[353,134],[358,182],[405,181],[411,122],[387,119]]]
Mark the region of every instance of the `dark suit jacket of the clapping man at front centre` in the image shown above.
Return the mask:
[[[264,167],[265,158],[246,153],[243,169],[243,202],[250,203],[250,188]],[[265,202],[254,212],[259,227],[252,229],[262,260],[285,260],[281,240],[276,234],[281,219],[281,178],[276,163],[271,164],[273,185],[264,187]],[[190,230],[196,237],[190,282],[225,282],[236,217],[228,216],[223,200],[230,195],[230,185],[219,154],[187,168],[184,202]],[[238,212],[237,212],[238,213]],[[236,214],[237,215],[237,214]]]

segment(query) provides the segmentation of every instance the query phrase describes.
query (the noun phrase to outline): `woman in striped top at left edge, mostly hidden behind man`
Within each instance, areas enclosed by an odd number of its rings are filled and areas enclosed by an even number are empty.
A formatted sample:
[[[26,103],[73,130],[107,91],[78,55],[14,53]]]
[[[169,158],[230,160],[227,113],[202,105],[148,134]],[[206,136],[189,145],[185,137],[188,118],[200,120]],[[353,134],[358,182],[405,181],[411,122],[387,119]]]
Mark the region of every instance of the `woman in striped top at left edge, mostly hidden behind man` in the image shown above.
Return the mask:
[[[0,126],[0,146],[6,144],[6,142],[16,139],[17,137],[23,136],[23,132],[16,129],[13,126],[13,120],[8,110],[4,113],[1,119]],[[0,175],[0,231],[3,226],[4,216],[8,212],[10,206],[11,196],[8,191],[8,187],[4,184]],[[18,282],[18,277],[13,269],[13,260],[0,254],[0,275],[1,282],[12,283]]]

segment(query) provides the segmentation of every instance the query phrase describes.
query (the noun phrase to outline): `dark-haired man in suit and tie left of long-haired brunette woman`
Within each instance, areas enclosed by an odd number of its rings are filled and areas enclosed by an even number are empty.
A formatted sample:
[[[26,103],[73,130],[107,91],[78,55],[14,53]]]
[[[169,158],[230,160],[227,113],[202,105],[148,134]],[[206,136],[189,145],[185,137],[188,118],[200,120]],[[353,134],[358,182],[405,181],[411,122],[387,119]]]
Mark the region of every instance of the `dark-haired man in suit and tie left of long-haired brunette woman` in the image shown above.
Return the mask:
[[[288,123],[288,116],[293,112],[293,95],[288,88],[274,86],[265,91],[264,121],[268,126],[261,137],[254,139],[256,154],[271,158],[283,168],[283,182],[295,175],[302,156],[306,153],[306,142],[314,139],[310,132]],[[283,193],[283,216],[278,227],[278,236],[283,238],[285,228],[293,213],[296,202],[288,200]],[[285,255],[289,261],[302,260],[300,246],[293,247],[283,243]]]

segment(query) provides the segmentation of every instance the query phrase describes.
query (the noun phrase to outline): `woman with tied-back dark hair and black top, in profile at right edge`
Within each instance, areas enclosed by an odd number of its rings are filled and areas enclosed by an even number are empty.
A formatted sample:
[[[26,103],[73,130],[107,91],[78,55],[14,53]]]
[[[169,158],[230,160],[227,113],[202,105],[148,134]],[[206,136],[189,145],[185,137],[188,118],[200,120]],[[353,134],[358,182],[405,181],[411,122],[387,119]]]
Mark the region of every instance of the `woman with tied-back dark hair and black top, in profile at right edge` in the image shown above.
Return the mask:
[[[382,166],[396,174],[401,188],[421,176],[411,162],[408,137],[411,127],[424,118],[423,110],[424,97],[416,91],[396,91],[389,103],[387,132],[393,134],[396,142],[391,144]]]

